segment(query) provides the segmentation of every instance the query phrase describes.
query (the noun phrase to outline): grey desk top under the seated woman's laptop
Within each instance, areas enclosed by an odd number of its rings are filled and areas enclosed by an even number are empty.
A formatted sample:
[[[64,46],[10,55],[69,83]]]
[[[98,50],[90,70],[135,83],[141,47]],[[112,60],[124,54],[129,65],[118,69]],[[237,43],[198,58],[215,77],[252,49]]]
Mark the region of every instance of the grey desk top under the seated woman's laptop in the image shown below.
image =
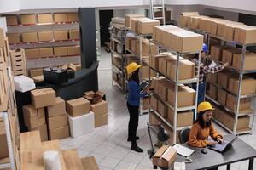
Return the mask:
[[[229,139],[230,135],[224,136]],[[189,147],[188,144],[183,146]],[[201,153],[201,148],[189,147],[195,152],[190,156],[192,163],[186,163],[187,170],[206,169],[230,164],[236,161],[244,161],[256,157],[256,150],[237,138],[228,150],[224,153],[218,153],[214,150],[207,149],[207,154]],[[184,156],[177,156],[177,161],[185,161]]]

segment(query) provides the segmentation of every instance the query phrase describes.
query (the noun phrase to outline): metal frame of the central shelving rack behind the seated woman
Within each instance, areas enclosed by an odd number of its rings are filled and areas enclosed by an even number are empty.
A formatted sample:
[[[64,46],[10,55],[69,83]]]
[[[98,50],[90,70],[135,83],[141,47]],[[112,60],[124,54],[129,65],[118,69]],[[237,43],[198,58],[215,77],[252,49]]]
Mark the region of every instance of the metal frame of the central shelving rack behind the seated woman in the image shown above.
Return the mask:
[[[180,53],[172,48],[166,47],[165,45],[161,44],[160,42],[156,42],[154,40],[150,40],[150,42],[154,43],[155,45],[157,45],[159,48],[164,48],[166,49],[166,51],[172,52],[172,54],[176,54],[177,55],[177,65],[176,65],[176,75],[175,75],[175,80],[172,80],[170,77],[167,77],[166,75],[164,75],[163,73],[161,73],[160,71],[155,70],[154,68],[152,68],[150,66],[150,69],[152,69],[153,71],[156,71],[160,76],[166,77],[167,80],[169,80],[170,82],[173,82],[175,84],[175,103],[174,105],[170,105],[168,102],[166,102],[164,99],[161,99],[159,95],[153,93],[154,97],[156,99],[159,99],[161,102],[163,102],[165,105],[167,105],[169,108],[172,109],[172,111],[174,112],[174,121],[173,121],[173,125],[168,122],[164,117],[160,116],[160,113],[158,113],[157,111],[154,111],[154,109],[152,107],[150,107],[150,111],[154,112],[154,115],[158,116],[158,118],[160,118],[161,122],[164,122],[166,124],[167,127],[170,127],[173,131],[173,144],[177,143],[177,131],[182,130],[184,127],[177,127],[177,112],[178,111],[189,111],[189,110],[195,110],[195,114],[194,114],[194,120],[196,119],[196,110],[197,110],[197,96],[198,96],[198,85],[199,85],[199,71],[197,73],[197,75],[195,75],[195,78],[189,79],[189,80],[178,80],[178,74],[179,74],[179,60],[180,57],[183,55],[188,55],[188,54],[198,54],[198,60],[199,62],[201,62],[201,52],[200,51],[195,51],[195,52],[190,52],[190,53]],[[149,69],[149,71],[150,71]],[[189,105],[189,106],[185,106],[185,107],[177,107],[177,93],[178,93],[178,85],[181,84],[191,84],[191,83],[196,83],[196,91],[195,91],[195,105]],[[150,112],[150,114],[152,114]],[[191,126],[189,126],[191,127]]]

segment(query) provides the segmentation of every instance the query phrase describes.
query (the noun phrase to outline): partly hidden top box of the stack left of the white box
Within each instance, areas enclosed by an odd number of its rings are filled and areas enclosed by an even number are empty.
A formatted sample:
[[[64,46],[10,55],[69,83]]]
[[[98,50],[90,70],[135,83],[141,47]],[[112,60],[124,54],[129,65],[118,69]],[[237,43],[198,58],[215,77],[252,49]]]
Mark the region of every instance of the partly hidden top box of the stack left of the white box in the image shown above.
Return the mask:
[[[47,117],[61,116],[66,113],[65,100],[60,97],[56,98],[55,105],[50,105],[46,108]]]

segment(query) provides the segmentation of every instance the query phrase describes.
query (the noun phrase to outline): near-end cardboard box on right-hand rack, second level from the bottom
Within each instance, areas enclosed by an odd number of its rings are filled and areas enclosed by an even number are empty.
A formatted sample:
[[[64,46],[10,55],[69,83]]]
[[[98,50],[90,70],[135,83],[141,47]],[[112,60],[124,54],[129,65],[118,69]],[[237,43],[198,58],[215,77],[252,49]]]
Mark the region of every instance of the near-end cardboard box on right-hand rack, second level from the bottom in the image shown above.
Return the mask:
[[[240,99],[239,111],[251,109],[251,98],[242,98]],[[226,107],[231,111],[236,111],[236,96],[232,94],[227,94]]]

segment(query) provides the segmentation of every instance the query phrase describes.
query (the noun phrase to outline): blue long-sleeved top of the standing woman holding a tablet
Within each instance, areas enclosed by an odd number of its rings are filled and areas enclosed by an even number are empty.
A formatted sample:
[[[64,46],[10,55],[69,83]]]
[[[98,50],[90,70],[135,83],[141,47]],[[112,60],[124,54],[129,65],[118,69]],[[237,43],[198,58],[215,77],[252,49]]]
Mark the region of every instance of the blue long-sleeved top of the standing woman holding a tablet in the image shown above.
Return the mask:
[[[139,106],[140,98],[147,95],[147,92],[140,93],[140,86],[135,81],[128,82],[128,99],[129,105]]]

